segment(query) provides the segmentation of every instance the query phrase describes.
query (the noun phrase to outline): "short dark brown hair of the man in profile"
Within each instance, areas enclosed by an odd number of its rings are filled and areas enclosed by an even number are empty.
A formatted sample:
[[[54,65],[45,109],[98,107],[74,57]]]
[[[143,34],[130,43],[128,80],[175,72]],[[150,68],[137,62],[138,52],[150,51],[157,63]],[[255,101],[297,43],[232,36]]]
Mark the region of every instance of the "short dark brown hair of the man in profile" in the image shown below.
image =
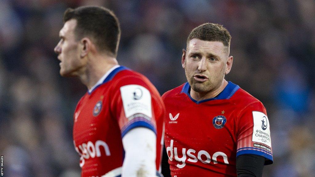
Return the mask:
[[[116,15],[109,9],[99,6],[68,8],[63,15],[63,22],[77,20],[76,40],[91,37],[97,49],[117,55],[120,39],[120,26]]]

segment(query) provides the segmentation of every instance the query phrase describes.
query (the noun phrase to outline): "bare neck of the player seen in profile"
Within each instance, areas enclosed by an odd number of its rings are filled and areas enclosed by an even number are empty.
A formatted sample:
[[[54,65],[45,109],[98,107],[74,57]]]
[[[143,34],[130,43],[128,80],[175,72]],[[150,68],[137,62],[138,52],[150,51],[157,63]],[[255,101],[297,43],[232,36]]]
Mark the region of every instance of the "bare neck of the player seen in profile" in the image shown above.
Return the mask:
[[[114,57],[103,55],[93,57],[89,59],[85,72],[79,78],[89,90],[115,65],[118,65],[118,62]]]

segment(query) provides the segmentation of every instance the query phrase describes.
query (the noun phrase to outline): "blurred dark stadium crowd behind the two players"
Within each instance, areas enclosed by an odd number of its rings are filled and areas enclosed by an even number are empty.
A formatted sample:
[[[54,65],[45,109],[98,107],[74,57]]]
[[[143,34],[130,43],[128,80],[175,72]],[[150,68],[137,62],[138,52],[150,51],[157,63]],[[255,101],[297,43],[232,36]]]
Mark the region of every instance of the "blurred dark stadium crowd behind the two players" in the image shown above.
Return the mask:
[[[264,177],[315,174],[315,1],[0,0],[0,154],[7,177],[79,176],[72,116],[86,87],[54,54],[67,7],[103,5],[120,20],[121,65],[163,94],[184,82],[186,37],[205,22],[232,35],[227,80],[261,100],[274,164]]]

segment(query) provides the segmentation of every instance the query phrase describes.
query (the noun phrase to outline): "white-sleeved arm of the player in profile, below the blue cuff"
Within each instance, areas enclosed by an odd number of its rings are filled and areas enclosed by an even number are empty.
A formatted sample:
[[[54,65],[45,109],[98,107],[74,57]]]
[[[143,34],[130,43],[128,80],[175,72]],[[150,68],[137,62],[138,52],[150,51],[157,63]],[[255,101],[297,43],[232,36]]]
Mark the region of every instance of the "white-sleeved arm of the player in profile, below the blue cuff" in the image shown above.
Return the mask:
[[[131,129],[123,137],[122,177],[156,176],[156,135],[149,128]]]

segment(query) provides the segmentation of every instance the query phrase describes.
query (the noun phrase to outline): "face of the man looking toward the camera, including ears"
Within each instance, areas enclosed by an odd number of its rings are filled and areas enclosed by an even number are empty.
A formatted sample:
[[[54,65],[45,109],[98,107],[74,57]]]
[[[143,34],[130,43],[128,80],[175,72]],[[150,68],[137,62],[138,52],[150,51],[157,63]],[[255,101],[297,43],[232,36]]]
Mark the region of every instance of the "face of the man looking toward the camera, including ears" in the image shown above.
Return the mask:
[[[182,65],[195,92],[208,93],[219,88],[232,67],[233,57],[222,42],[192,39],[183,50]]]

